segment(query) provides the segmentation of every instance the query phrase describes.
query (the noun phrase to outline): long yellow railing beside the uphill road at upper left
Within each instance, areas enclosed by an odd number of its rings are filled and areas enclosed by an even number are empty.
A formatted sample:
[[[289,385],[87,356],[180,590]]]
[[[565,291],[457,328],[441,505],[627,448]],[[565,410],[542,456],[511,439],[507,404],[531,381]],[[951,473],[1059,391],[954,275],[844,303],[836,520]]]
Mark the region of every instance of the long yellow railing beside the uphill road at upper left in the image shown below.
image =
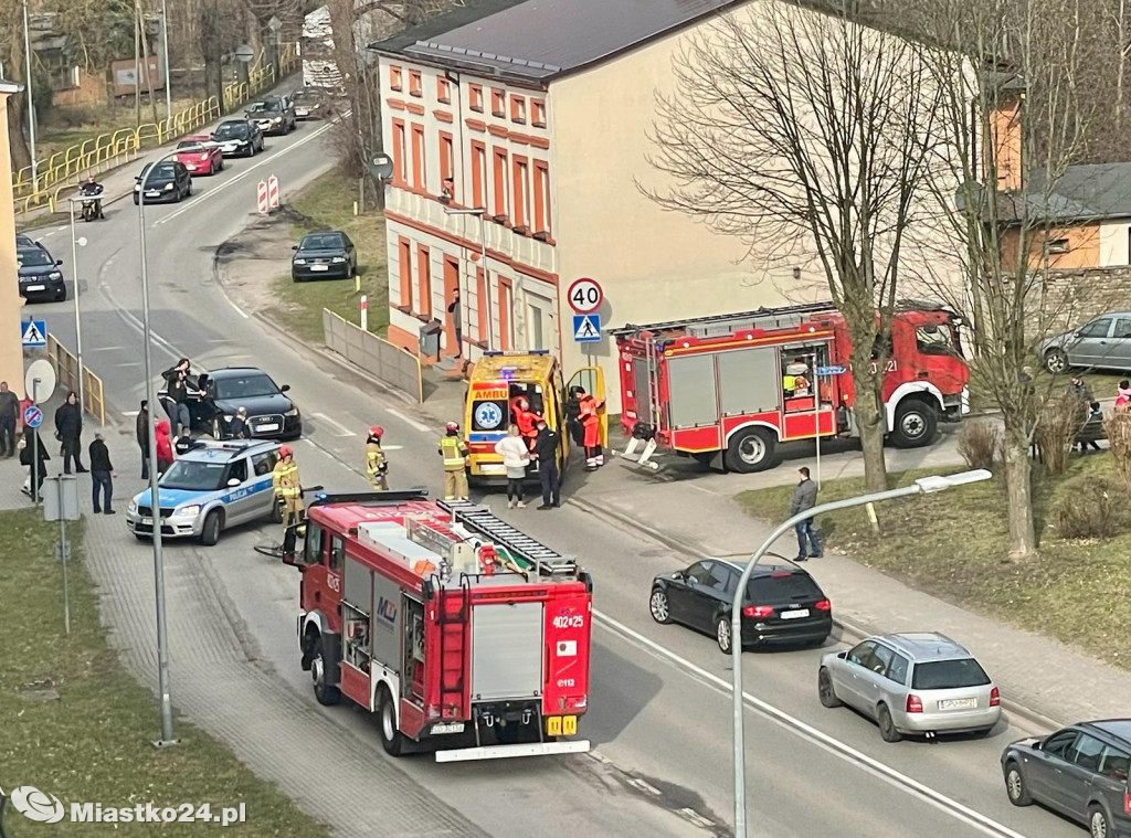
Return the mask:
[[[279,78],[299,64],[293,45],[283,46],[286,49],[279,55]],[[264,53],[260,52],[260,62],[262,59]],[[58,211],[62,191],[77,187],[84,173],[105,172],[129,163],[144,148],[164,145],[170,139],[217,120],[275,83],[275,66],[260,63],[248,71],[248,81],[226,85],[223,100],[209,96],[159,122],[146,122],[137,128],[101,133],[62,152],[55,152],[37,162],[35,179],[32,178],[32,167],[24,166],[11,176],[16,215],[24,215],[44,205],[52,213]]]

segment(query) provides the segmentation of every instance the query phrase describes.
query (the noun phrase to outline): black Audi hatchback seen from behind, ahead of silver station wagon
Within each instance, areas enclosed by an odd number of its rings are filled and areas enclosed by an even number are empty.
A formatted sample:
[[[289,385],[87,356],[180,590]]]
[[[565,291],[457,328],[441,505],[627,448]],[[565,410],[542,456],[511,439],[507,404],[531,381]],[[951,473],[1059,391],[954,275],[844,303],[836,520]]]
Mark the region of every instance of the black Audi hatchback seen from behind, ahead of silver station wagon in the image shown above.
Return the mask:
[[[742,608],[742,645],[819,646],[832,631],[832,605],[796,564],[754,567]],[[731,654],[731,607],[745,565],[711,559],[653,580],[648,610],[657,623],[683,623],[715,636]]]

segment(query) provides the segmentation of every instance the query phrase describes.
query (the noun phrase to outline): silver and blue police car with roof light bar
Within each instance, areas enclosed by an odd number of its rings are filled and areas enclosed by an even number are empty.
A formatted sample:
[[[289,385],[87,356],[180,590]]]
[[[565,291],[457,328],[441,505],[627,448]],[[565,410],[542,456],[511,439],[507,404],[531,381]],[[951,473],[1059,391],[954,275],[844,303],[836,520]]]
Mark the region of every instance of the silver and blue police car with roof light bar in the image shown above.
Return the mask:
[[[266,440],[201,441],[178,458],[161,477],[163,538],[199,538],[211,546],[221,530],[270,518],[278,522],[271,470],[279,446]],[[153,502],[141,492],[126,512],[126,525],[138,538],[153,536]]]

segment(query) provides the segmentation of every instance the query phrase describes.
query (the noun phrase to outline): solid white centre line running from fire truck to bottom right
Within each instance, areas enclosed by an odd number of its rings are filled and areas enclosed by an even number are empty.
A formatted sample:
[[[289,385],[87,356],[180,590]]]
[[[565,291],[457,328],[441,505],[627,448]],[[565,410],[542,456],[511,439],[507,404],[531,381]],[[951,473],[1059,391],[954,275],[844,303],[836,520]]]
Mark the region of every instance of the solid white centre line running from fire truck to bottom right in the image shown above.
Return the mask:
[[[720,679],[714,673],[707,672],[700,666],[691,663],[687,658],[676,655],[671,651],[665,646],[657,643],[655,640],[645,637],[634,629],[630,629],[624,623],[614,620],[613,617],[604,614],[599,611],[593,612],[593,619],[595,623],[602,624],[602,627],[614,634],[620,634],[621,639],[628,640],[651,651],[657,657],[666,659],[668,663],[674,664],[676,667],[684,669],[688,674],[693,675],[696,679],[705,684],[716,688],[720,692],[733,696],[734,686],[729,681]],[[895,768],[891,768],[887,763],[880,762],[877,759],[869,757],[866,753],[857,751],[855,748],[840,742],[839,740],[830,736],[827,733],[818,731],[810,724],[802,722],[789,714],[779,710],[772,705],[762,701],[761,699],[751,696],[749,692],[742,693],[743,702],[768,716],[774,722],[778,723],[782,727],[792,731],[793,733],[808,738],[810,742],[823,748],[829,753],[839,757],[846,762],[854,763],[864,770],[870,771],[872,775],[884,780],[889,785],[900,788],[910,795],[914,795],[924,802],[931,804],[935,809],[940,810],[955,818],[956,820],[962,821],[964,823],[974,827],[978,831],[995,836],[996,838],[1025,838],[1020,832],[1016,832],[1009,827],[999,823],[998,821],[987,818],[981,812],[966,806],[952,797],[948,797],[941,792],[936,792],[930,786],[920,783],[905,774],[900,774]]]

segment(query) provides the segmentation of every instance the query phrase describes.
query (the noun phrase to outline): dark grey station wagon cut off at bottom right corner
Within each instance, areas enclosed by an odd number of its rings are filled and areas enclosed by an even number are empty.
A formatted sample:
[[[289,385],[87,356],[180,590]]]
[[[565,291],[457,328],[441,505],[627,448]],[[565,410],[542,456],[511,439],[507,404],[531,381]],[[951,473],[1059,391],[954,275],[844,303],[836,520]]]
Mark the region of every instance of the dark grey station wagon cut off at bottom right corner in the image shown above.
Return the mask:
[[[1093,838],[1131,836],[1131,719],[1080,722],[1001,754],[1015,806],[1042,803],[1085,823]]]

